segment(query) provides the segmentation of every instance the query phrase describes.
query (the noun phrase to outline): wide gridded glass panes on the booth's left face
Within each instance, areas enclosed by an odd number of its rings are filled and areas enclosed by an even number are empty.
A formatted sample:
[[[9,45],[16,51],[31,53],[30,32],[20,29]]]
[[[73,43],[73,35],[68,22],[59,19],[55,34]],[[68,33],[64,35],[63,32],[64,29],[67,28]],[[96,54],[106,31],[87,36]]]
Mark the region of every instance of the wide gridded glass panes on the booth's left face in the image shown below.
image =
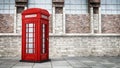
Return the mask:
[[[35,24],[29,23],[26,24],[26,53],[33,54],[35,53]]]

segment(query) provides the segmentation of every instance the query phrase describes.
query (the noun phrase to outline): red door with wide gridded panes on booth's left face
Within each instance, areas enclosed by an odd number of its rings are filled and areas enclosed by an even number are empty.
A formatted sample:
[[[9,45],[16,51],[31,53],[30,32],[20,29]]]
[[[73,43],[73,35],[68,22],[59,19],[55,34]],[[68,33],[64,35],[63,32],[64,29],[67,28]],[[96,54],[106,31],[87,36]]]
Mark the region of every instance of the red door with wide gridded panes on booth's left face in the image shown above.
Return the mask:
[[[36,29],[36,22],[35,20],[25,20],[25,24],[23,24],[23,36],[22,39],[25,42],[23,45],[23,52],[24,52],[24,60],[35,61],[36,60],[36,42],[35,42],[35,29]]]

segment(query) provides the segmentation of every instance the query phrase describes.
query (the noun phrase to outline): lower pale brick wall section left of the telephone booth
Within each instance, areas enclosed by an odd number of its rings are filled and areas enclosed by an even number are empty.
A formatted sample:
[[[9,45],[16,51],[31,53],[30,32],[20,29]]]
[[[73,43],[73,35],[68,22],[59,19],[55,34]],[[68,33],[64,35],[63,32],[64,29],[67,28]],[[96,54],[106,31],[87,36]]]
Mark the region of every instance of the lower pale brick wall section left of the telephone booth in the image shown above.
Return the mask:
[[[21,36],[0,36],[0,57],[21,57]]]

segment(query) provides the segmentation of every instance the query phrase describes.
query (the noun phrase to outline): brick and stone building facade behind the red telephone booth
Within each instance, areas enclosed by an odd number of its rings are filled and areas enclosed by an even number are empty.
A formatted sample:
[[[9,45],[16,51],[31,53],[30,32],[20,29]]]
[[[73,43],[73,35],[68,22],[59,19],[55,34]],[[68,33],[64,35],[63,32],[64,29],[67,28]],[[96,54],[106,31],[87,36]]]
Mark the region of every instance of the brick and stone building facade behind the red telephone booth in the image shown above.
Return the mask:
[[[21,12],[50,13],[50,57],[119,56],[120,0],[0,0],[0,56],[21,55]]]

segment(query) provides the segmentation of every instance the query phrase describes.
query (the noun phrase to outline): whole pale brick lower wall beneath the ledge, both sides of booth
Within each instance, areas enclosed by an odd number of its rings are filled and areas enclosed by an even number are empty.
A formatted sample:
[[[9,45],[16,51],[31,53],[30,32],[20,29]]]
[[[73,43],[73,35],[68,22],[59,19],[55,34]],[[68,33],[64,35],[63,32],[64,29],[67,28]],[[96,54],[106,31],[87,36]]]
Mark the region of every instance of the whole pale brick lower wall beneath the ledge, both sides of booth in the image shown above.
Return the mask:
[[[119,56],[120,36],[50,36],[50,57]],[[21,56],[21,36],[0,36],[0,57]]]

